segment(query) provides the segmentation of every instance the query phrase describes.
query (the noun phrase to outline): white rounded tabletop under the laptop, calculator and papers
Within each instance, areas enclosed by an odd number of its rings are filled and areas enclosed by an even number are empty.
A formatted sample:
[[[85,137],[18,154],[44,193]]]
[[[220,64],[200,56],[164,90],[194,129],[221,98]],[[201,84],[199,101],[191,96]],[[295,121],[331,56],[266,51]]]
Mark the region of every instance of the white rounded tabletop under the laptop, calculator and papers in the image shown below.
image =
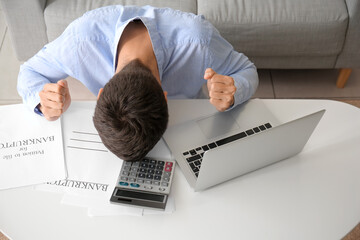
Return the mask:
[[[61,205],[61,194],[25,187],[0,191],[0,231],[14,240],[342,238],[360,221],[360,110],[329,100],[264,102],[281,121],[327,111],[297,156],[204,192],[177,168],[173,214],[91,218]],[[170,114],[174,106],[213,111],[203,100],[169,104]]]

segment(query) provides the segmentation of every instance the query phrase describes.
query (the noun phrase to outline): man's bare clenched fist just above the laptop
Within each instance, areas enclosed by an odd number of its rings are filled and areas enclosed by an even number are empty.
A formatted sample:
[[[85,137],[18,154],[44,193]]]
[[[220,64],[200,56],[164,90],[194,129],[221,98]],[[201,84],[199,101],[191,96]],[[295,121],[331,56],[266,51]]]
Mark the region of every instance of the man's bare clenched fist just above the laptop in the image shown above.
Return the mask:
[[[210,103],[218,111],[223,112],[234,104],[236,87],[232,77],[217,74],[214,70],[208,68],[205,70],[204,79],[208,81]]]

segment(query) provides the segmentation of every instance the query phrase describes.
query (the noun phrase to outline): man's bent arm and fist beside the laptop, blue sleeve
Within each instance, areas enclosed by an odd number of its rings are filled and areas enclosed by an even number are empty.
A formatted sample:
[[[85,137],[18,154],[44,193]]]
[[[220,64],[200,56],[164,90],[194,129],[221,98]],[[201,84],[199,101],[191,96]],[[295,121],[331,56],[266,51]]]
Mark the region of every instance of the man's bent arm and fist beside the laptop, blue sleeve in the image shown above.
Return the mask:
[[[210,45],[211,68],[205,70],[210,102],[225,111],[251,98],[258,86],[255,65],[214,31]]]

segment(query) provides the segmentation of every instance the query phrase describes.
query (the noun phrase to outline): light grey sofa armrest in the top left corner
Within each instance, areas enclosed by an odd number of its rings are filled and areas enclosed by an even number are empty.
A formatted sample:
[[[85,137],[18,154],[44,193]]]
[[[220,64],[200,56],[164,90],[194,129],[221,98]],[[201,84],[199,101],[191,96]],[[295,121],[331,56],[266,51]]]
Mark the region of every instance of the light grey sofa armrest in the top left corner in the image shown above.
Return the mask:
[[[36,54],[47,42],[46,0],[0,0],[10,37],[19,61]]]

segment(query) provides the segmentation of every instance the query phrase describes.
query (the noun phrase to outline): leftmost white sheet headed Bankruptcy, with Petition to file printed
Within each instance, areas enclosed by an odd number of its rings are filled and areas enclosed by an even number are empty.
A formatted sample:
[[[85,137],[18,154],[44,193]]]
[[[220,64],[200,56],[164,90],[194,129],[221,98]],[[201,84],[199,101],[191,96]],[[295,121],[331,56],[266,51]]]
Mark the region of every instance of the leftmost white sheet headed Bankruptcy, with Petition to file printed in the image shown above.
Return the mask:
[[[23,104],[0,107],[0,189],[66,178],[61,121]]]

